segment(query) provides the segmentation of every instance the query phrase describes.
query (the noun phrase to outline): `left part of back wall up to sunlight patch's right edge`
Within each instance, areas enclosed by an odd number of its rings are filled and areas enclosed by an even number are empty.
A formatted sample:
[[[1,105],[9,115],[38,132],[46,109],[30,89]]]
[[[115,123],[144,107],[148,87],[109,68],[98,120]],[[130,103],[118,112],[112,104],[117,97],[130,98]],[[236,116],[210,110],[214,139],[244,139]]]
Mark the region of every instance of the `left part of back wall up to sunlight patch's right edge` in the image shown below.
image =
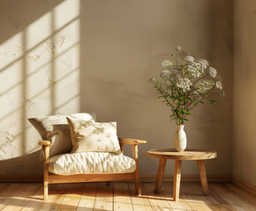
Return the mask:
[[[0,176],[42,173],[40,136],[27,118],[78,112],[79,89],[71,86],[79,76],[75,3],[0,3]]]

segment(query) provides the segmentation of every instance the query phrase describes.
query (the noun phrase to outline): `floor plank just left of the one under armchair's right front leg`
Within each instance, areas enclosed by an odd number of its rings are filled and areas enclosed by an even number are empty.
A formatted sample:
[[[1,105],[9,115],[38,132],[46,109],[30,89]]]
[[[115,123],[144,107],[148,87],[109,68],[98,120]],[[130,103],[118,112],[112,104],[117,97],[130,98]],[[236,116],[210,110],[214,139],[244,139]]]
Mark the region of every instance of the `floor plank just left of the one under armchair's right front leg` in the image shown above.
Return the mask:
[[[132,211],[132,200],[127,183],[114,183],[114,210]]]

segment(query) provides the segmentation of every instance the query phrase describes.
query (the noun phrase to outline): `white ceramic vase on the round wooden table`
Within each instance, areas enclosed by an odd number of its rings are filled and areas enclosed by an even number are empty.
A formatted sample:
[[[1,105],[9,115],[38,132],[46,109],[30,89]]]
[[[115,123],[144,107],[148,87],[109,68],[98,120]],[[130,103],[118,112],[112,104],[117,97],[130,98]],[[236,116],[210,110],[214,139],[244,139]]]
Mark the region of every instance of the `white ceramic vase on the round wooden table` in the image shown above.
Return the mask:
[[[184,125],[177,125],[177,131],[174,135],[174,148],[178,151],[184,151],[186,148],[186,135],[184,133]]]

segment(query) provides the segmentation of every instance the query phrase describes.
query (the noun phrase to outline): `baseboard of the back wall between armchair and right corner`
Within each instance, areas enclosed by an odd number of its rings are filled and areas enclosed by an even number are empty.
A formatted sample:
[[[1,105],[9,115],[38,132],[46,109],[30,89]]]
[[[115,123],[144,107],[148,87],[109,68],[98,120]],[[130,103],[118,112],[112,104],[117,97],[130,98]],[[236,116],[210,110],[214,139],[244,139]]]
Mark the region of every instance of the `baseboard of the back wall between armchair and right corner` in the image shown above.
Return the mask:
[[[140,175],[140,182],[155,182],[156,175]],[[232,176],[229,174],[207,175],[208,182],[231,182]],[[173,175],[164,175],[162,182],[173,182]],[[200,175],[182,174],[181,182],[200,182]]]

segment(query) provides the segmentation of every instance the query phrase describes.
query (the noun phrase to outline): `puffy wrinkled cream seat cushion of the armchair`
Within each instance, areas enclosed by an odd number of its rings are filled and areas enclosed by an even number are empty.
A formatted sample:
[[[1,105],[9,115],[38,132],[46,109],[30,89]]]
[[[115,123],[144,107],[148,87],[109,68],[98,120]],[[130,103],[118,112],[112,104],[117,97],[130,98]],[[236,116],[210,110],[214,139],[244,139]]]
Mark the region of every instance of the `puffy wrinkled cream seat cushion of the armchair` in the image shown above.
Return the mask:
[[[80,152],[49,158],[49,171],[60,175],[132,173],[135,161],[123,154]]]

